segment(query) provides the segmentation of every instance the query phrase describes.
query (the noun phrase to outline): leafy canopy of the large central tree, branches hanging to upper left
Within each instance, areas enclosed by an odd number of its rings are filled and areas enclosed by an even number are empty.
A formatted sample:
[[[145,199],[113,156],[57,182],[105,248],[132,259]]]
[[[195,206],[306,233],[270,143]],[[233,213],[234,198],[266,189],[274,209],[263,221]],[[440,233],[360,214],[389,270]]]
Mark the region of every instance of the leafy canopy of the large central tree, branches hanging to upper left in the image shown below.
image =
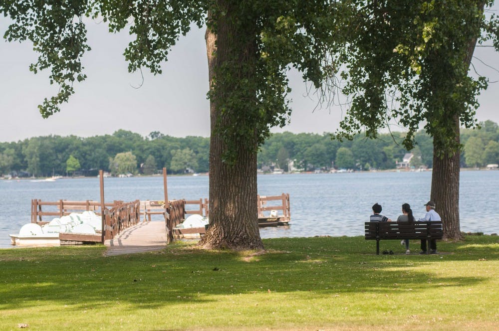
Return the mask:
[[[234,49],[254,43],[254,54],[240,61],[227,58],[217,68],[217,84],[210,98],[216,98],[218,86],[233,87],[218,102],[224,117],[232,117],[238,125],[223,128],[220,119],[217,130],[232,150],[237,144],[256,152],[273,126],[284,126],[291,109],[286,99],[290,91],[286,72],[295,67],[303,78],[320,86],[331,74],[327,54],[333,48],[338,32],[337,20],[345,7],[337,1],[3,1],[0,10],[14,22],[4,37],[8,41],[30,40],[39,54],[30,66],[34,73],[50,69],[50,84],[59,86],[56,95],[46,98],[39,106],[43,117],[60,110],[75,92],[73,83],[86,79],[81,58],[89,51],[85,17],[102,19],[110,32],[129,29],[135,37],[124,51],[130,72],[148,68],[161,73],[161,63],[167,60],[170,48],[191,24],[204,24],[218,32],[220,20],[231,15],[234,30],[250,30],[251,38],[234,38]],[[210,12],[210,15],[207,15]],[[233,14],[234,13],[234,14]],[[235,54],[235,53],[234,53]],[[235,55],[236,56],[236,55]],[[251,79],[241,79],[234,72],[254,71]],[[251,95],[249,95],[250,93]],[[247,102],[252,99],[253,102]],[[256,134],[253,134],[256,132]]]

